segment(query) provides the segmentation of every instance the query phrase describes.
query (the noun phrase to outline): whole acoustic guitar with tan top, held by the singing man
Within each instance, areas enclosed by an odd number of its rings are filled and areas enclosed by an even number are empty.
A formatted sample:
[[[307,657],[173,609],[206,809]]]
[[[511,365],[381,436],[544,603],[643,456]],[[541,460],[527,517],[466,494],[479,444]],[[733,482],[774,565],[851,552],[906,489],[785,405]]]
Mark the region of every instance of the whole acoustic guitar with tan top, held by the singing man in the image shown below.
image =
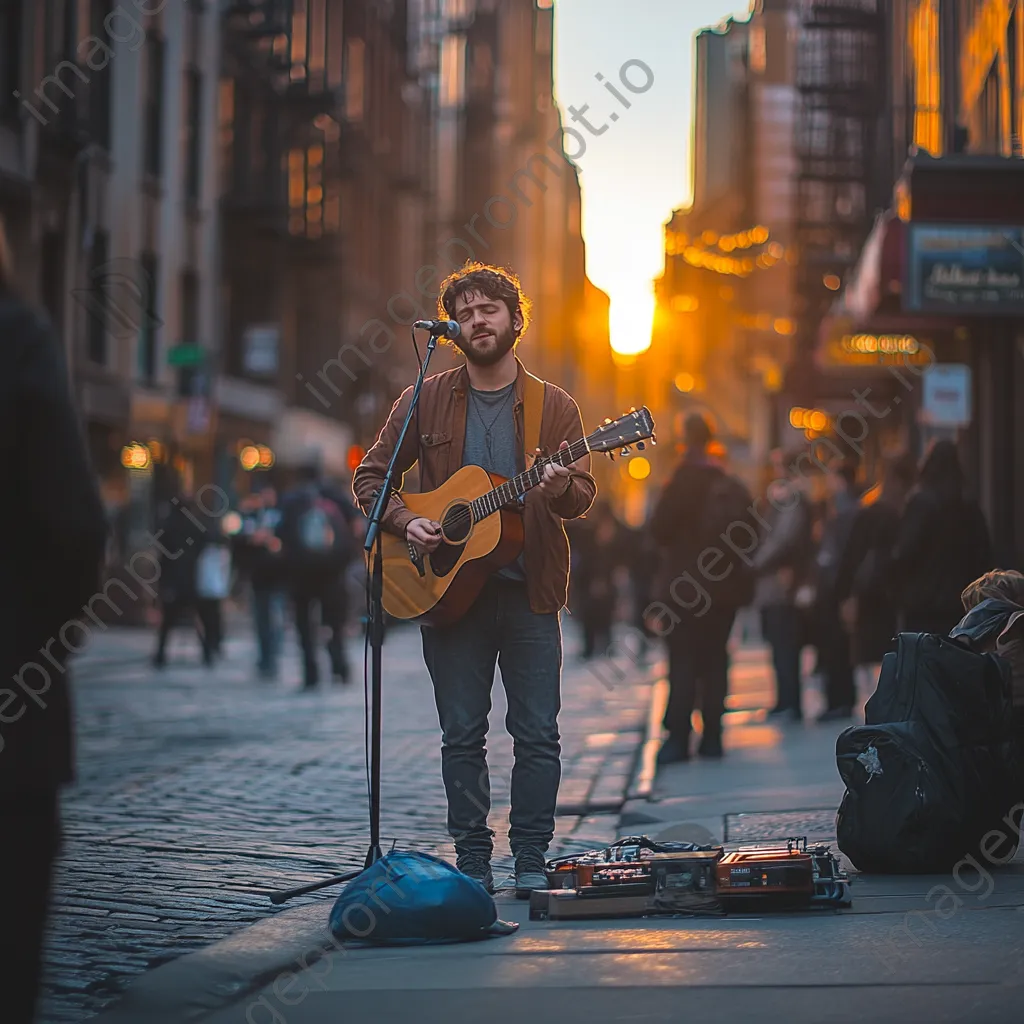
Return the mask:
[[[417,516],[441,524],[441,543],[429,554],[394,534],[381,531],[384,610],[394,618],[446,626],[462,617],[487,579],[519,557],[523,517],[519,501],[543,479],[549,463],[569,466],[588,453],[629,455],[654,438],[645,408],[605,420],[590,436],[538,458],[506,479],[479,466],[463,466],[435,490],[402,495]]]

